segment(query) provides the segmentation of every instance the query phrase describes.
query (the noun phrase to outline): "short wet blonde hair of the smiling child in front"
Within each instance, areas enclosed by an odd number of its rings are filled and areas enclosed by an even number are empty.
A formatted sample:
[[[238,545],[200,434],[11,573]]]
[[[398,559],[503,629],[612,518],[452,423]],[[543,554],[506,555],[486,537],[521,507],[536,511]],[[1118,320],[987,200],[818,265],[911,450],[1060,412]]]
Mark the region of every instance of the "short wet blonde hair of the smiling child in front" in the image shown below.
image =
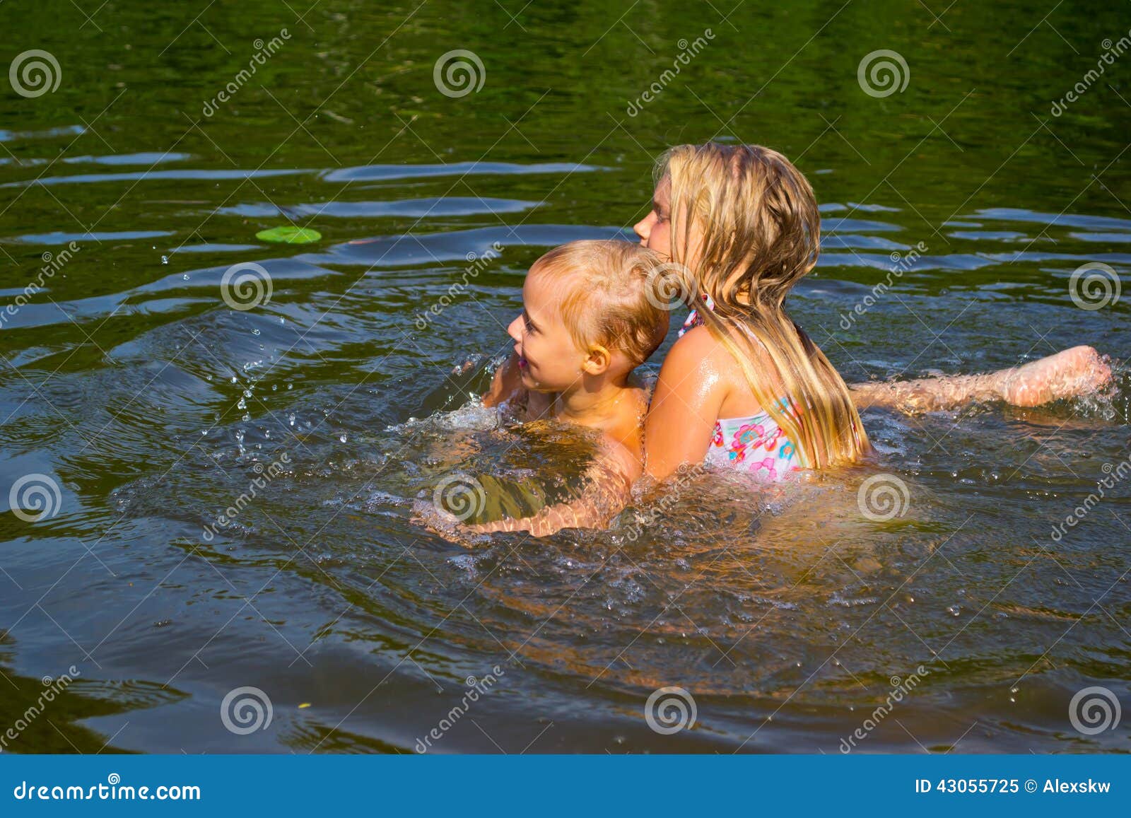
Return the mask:
[[[655,294],[659,256],[618,239],[571,241],[530,267],[563,287],[562,320],[582,350],[620,350],[644,363],[667,335],[668,310]]]

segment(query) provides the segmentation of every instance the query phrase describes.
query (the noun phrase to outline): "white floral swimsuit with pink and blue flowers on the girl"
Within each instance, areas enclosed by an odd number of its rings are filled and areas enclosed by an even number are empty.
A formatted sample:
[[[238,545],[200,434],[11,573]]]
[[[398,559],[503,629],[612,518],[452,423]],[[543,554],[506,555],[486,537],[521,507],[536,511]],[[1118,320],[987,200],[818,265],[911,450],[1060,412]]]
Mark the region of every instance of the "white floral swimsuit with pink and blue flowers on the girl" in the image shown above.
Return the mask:
[[[703,299],[707,309],[714,309],[710,296],[705,295]],[[683,322],[680,336],[701,325],[699,312],[692,310]],[[793,408],[787,398],[782,398],[779,406],[787,412]],[[750,417],[719,417],[715,422],[706,462],[767,481],[782,480],[789,472],[801,468],[793,441],[767,412]]]

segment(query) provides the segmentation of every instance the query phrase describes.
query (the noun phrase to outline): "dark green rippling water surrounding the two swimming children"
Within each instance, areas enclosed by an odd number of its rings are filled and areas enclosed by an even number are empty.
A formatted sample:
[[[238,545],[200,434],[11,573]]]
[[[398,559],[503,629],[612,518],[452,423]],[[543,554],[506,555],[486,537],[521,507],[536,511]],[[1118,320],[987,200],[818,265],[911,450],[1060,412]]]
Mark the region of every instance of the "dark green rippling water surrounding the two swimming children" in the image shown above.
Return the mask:
[[[52,270],[0,327],[0,489],[59,487],[53,516],[0,516],[0,731],[79,673],[5,749],[413,751],[475,677],[433,751],[837,752],[920,665],[860,751],[1131,749],[1126,715],[1069,717],[1095,686],[1131,708],[1131,485],[1051,535],[1129,455],[1122,377],[1086,404],[871,412],[869,470],[792,497],[708,480],[637,528],[465,550],[411,522],[460,463],[553,470],[449,413],[528,265],[631,227],[675,143],[809,174],[824,256],[791,309],[848,379],[1125,356],[1125,298],[1080,309],[1070,277],[1131,266],[1131,57],[1051,112],[1124,7],[79,5],[0,5],[5,64],[38,49],[60,75],[0,88],[0,304]],[[484,71],[460,97],[433,83],[456,49]],[[881,49],[908,76],[878,97],[857,67]],[[291,224],[321,241],[256,239]],[[239,262],[268,302],[221,298]],[[877,471],[903,516],[861,515]],[[659,734],[646,701],[673,686],[697,718]],[[242,687],[273,712],[247,734],[221,716]]]

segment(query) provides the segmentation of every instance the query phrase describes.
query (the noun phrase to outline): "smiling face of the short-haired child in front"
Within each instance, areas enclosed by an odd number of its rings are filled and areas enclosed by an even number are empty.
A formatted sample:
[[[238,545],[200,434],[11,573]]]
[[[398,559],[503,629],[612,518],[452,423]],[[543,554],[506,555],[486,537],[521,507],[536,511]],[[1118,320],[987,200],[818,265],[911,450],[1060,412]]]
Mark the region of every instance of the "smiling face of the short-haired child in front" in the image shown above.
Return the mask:
[[[582,376],[587,355],[562,321],[561,298],[561,283],[532,269],[523,284],[523,313],[507,327],[523,386],[534,391],[566,391]]]

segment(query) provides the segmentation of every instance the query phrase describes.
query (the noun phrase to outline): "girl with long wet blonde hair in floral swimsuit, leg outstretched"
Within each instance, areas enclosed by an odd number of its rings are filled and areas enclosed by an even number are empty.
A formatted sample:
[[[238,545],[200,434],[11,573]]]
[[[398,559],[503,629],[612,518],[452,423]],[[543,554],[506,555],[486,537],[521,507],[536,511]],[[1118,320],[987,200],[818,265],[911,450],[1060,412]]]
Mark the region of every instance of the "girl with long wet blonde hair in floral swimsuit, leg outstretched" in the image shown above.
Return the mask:
[[[667,150],[656,179],[651,212],[634,230],[682,272],[692,315],[647,416],[646,470],[655,477],[705,459],[769,480],[855,463],[870,450],[857,405],[1035,405],[1110,377],[1081,346],[986,376],[849,388],[785,311],[820,246],[805,176],[776,150],[708,143]]]

